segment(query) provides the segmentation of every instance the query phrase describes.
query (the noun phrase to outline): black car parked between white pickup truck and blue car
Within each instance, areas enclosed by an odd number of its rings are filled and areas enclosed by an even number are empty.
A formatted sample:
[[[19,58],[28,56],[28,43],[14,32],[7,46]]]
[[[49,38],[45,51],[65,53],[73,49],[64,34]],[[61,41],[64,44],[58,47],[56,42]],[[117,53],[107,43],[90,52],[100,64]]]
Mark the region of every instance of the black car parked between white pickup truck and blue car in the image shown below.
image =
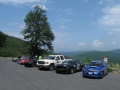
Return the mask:
[[[56,66],[56,73],[74,73],[75,71],[82,71],[83,63],[80,60],[66,60],[62,64]]]

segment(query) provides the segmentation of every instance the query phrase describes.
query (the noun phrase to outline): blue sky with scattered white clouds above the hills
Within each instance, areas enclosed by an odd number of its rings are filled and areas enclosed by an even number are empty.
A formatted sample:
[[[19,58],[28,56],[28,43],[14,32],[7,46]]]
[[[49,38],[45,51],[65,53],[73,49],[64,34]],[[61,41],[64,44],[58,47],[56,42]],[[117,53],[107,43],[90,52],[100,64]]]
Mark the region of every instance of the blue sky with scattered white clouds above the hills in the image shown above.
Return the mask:
[[[0,31],[23,38],[35,5],[47,11],[55,52],[120,49],[120,0],[0,0]]]

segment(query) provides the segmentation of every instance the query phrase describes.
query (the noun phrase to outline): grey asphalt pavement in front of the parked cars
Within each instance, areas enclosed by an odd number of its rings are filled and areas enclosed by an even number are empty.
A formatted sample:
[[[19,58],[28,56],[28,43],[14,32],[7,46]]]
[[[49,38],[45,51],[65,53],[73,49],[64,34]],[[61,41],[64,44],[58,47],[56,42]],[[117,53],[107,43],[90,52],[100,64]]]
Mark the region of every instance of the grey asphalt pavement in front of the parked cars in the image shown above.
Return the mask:
[[[120,90],[120,75],[82,78],[82,72],[56,74],[0,58],[0,90]]]

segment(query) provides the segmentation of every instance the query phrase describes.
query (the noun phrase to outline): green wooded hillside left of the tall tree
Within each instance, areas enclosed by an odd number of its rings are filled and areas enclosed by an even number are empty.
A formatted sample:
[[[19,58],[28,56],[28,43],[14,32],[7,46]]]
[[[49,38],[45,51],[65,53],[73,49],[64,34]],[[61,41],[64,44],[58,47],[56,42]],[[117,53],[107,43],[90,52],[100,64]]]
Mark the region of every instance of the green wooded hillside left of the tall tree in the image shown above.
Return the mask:
[[[28,55],[28,46],[22,39],[6,35],[6,44],[0,49],[0,56],[15,57],[18,54]]]

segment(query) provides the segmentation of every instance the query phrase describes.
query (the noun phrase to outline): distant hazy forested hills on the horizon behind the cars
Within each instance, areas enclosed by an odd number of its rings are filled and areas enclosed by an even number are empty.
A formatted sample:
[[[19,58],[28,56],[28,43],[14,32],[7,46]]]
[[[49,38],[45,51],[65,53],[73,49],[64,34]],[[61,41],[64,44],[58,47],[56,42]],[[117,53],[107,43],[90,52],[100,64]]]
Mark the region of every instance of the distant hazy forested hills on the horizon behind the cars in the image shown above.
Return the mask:
[[[110,51],[77,51],[77,52],[63,52],[63,55],[69,56],[73,59],[84,60],[86,58],[90,59],[103,59],[104,55],[108,56],[108,62],[120,63],[120,49],[110,50]]]

